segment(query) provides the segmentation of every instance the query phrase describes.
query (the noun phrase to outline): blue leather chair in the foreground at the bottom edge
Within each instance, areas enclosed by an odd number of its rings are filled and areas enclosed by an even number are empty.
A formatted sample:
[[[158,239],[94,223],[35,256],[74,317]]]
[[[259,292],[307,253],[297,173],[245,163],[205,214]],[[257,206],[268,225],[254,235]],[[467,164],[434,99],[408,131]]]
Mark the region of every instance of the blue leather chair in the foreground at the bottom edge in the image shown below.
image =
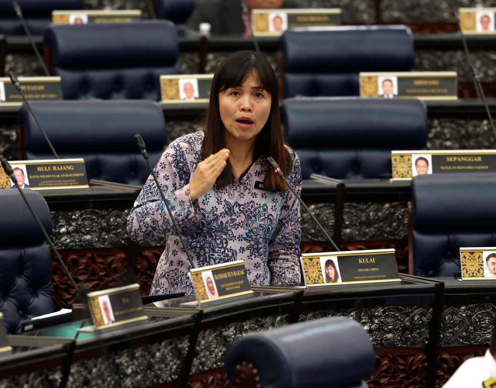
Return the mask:
[[[229,348],[225,367],[235,386],[366,388],[375,354],[359,323],[333,317],[248,334]]]

